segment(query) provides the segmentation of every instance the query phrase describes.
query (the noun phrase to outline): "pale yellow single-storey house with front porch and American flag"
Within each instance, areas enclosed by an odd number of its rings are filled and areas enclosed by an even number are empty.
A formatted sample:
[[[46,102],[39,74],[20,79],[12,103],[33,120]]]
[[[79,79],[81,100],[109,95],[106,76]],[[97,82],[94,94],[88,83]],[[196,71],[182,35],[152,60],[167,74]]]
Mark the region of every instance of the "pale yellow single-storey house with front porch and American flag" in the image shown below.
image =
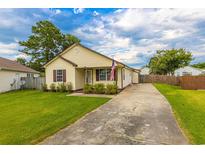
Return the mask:
[[[44,65],[46,84],[70,82],[73,90],[80,90],[85,83],[112,84],[110,72],[113,59],[79,43],[58,54]],[[115,81],[119,89],[138,83],[139,70],[115,60]]]

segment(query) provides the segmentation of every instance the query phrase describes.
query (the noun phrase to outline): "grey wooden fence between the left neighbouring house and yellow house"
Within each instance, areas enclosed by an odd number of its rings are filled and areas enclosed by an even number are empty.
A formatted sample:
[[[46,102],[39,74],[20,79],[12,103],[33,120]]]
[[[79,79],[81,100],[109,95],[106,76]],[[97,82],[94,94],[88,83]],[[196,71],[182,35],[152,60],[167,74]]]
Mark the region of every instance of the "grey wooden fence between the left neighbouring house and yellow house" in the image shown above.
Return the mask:
[[[25,84],[23,85],[23,87],[25,89],[42,89],[42,85],[45,84],[45,77],[37,77],[37,78],[33,78],[33,77],[27,77],[24,78]]]

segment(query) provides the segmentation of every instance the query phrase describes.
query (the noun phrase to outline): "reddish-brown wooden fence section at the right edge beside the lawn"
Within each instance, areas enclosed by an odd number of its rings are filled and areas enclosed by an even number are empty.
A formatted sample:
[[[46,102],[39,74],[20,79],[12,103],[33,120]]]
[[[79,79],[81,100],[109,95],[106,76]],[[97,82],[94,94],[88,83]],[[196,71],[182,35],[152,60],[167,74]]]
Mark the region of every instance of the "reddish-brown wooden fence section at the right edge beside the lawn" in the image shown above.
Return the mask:
[[[182,76],[180,77],[182,89],[205,89],[205,76]]]

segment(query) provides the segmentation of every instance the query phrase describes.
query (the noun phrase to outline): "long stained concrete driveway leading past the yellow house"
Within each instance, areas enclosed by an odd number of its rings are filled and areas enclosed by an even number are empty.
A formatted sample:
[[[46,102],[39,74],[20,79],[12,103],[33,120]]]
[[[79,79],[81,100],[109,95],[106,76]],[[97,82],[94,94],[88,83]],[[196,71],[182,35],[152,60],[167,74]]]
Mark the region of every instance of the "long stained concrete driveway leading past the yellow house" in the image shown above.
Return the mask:
[[[41,144],[188,144],[152,84],[132,85]]]

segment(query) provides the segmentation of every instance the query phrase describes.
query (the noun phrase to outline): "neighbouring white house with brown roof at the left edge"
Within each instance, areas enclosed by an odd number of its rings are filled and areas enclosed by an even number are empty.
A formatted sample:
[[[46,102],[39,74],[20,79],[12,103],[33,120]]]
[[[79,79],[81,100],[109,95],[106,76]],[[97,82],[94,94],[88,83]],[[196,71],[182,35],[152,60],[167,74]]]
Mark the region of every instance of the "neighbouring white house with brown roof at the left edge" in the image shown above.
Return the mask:
[[[19,89],[22,77],[38,77],[39,72],[6,58],[0,57],[0,92]]]

